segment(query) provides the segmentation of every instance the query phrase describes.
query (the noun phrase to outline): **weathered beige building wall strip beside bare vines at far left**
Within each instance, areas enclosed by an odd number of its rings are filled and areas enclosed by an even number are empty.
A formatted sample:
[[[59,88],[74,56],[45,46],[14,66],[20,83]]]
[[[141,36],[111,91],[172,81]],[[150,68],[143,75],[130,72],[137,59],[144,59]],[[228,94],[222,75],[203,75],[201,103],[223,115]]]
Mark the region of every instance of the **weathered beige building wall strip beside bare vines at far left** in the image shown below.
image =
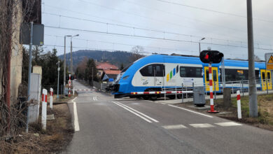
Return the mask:
[[[22,82],[22,45],[20,40],[20,25],[22,22],[22,1],[15,0],[16,9],[13,15],[12,52],[10,57],[10,97],[13,102],[18,97],[18,87]]]

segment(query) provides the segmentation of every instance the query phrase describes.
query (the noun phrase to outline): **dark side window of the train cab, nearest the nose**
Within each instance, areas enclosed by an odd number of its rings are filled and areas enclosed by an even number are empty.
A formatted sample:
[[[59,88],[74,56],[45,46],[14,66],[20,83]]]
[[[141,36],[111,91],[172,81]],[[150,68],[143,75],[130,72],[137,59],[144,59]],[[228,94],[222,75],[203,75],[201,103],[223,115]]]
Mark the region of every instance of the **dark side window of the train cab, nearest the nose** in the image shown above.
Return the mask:
[[[165,66],[163,64],[150,64],[140,70],[142,76],[165,76]]]

